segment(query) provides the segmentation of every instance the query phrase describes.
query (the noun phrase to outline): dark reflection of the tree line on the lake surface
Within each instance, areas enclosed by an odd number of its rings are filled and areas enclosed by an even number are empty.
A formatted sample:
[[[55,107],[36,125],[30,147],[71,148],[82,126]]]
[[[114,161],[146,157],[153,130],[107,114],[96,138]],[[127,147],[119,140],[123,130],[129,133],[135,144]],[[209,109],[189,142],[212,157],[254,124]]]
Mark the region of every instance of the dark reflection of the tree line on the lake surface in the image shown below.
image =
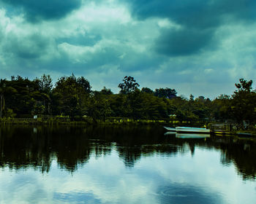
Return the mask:
[[[255,179],[256,143],[233,137],[179,139],[164,136],[159,127],[0,127],[0,168],[35,168],[50,171],[53,160],[59,168],[73,172],[90,157],[104,157],[113,150],[133,168],[141,157],[195,153],[197,146],[222,151],[221,162],[233,162],[244,179]]]

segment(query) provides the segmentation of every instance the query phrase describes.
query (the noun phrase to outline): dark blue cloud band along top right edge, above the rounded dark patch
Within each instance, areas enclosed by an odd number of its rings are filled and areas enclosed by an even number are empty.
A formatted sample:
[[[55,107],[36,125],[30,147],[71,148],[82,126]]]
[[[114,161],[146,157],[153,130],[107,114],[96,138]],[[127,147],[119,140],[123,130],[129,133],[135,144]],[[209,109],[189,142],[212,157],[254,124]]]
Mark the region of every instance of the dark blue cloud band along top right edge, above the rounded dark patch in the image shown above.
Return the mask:
[[[124,0],[121,0],[124,1]],[[255,20],[255,0],[130,0],[132,14],[140,19],[169,17],[178,24],[211,27],[221,23],[223,16]]]

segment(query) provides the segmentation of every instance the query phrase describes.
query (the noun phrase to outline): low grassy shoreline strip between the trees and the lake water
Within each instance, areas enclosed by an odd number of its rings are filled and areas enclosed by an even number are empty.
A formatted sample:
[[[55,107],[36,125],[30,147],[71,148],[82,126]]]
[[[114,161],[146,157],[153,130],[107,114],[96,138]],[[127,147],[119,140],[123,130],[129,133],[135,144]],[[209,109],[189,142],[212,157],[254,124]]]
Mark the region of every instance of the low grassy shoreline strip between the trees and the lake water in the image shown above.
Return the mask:
[[[83,120],[71,120],[68,117],[48,117],[48,118],[2,118],[0,119],[0,126],[2,125],[150,125],[163,127],[169,126],[203,126],[203,122],[179,122],[170,121],[167,122],[165,119],[154,120],[154,119],[128,119],[128,118],[110,118],[103,120],[94,120],[90,117],[83,118]],[[214,131],[211,130],[211,135],[214,136],[238,136],[240,138],[256,138],[256,130],[236,130],[236,131]]]

